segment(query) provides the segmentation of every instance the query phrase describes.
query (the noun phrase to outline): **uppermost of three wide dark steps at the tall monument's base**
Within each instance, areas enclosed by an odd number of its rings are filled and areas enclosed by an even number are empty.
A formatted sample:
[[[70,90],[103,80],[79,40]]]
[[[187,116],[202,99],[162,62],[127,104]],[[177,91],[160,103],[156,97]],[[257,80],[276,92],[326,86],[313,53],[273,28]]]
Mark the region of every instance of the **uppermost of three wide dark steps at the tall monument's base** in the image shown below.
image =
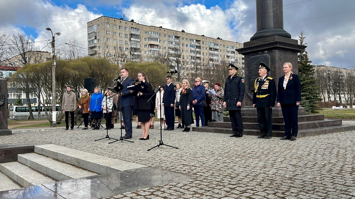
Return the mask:
[[[258,119],[256,116],[244,116],[243,122],[249,122],[249,123],[257,123]],[[305,121],[317,121],[317,120],[324,120],[324,115],[299,115],[298,116],[298,122],[305,122]],[[223,117],[224,122],[230,122],[229,116]],[[283,117],[278,117],[278,116],[273,116],[272,117],[272,123],[273,124],[284,124],[284,118]]]

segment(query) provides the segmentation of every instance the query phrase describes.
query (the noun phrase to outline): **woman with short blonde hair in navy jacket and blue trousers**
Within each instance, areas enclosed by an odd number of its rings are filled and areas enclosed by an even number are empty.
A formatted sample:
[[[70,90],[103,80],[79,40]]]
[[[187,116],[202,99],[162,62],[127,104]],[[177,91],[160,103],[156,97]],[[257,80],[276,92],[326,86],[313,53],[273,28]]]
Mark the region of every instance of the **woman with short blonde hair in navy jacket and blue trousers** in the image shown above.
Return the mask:
[[[193,97],[193,112],[195,112],[196,117],[196,127],[200,126],[200,117],[201,117],[201,125],[204,126],[204,114],[203,114],[203,104],[204,95],[206,93],[206,89],[201,84],[201,78],[195,79],[195,86],[192,88],[192,97]]]

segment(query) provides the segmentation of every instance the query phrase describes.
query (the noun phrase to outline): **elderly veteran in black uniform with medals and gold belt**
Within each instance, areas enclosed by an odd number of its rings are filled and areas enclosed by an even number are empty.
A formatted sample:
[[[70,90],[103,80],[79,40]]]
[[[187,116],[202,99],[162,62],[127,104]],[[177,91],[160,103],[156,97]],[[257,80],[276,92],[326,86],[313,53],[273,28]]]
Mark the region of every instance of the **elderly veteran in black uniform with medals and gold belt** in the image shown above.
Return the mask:
[[[259,64],[260,78],[256,78],[253,93],[253,107],[256,107],[258,124],[261,136],[258,138],[270,139],[272,137],[272,108],[275,107],[276,85],[275,80],[267,75],[270,68],[263,62]]]

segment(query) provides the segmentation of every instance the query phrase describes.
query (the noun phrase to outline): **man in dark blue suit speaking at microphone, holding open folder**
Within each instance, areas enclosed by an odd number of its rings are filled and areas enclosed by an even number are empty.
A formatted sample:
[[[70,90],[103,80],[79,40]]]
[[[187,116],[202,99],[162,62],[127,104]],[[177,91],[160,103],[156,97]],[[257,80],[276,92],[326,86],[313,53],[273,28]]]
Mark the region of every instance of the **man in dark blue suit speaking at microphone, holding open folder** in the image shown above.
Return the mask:
[[[121,69],[121,78],[122,78],[122,86],[123,90],[118,95],[121,97],[121,107],[122,107],[122,116],[125,121],[125,130],[126,135],[123,137],[124,139],[131,139],[132,138],[132,109],[135,103],[134,94],[127,89],[127,86],[130,86],[135,82],[133,78],[129,76],[129,70],[127,68]]]

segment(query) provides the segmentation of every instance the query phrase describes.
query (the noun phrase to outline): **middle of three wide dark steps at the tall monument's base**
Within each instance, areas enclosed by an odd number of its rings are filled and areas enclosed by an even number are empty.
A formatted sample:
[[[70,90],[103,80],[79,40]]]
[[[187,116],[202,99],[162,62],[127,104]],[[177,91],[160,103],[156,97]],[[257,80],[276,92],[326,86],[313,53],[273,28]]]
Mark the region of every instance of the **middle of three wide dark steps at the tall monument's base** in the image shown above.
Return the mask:
[[[325,127],[325,126],[337,126],[342,125],[342,120],[333,120],[333,119],[325,119],[325,120],[317,120],[317,121],[305,121],[298,123],[298,129],[313,129],[317,127]],[[243,121],[243,126],[245,129],[259,129],[258,123],[247,123]],[[208,127],[219,127],[219,128],[230,128],[231,123],[228,122],[211,122],[208,123]],[[274,131],[284,131],[284,124],[272,124],[272,130]]]

